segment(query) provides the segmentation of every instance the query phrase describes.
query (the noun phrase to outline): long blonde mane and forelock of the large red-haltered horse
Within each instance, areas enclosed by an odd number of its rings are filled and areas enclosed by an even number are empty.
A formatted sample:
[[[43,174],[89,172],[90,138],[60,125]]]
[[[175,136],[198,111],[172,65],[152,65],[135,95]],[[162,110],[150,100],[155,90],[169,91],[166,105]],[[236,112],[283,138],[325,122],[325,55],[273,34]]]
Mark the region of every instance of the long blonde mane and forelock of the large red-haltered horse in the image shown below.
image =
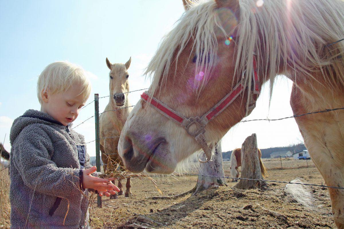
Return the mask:
[[[226,37],[232,35],[226,33],[214,0],[197,1],[190,7],[162,39],[146,69],[145,74],[152,78],[153,93],[164,86],[171,65],[174,61],[178,65],[179,56],[190,41],[192,50],[202,55],[197,58],[195,72],[203,69],[207,76],[217,54],[219,34],[215,31],[222,31]],[[256,53],[258,75],[263,80],[270,79],[270,97],[277,74],[295,80],[297,72],[301,72],[305,81],[321,72],[325,84],[342,88],[344,65],[340,57],[344,55],[344,42],[327,45],[344,38],[343,9],[342,0],[271,0],[264,1],[262,7],[256,5],[256,0],[240,0],[238,39],[234,38],[235,74],[242,74],[244,84],[250,88],[252,54]],[[209,78],[195,79],[195,91],[199,93]],[[248,90],[247,101],[250,93]]]

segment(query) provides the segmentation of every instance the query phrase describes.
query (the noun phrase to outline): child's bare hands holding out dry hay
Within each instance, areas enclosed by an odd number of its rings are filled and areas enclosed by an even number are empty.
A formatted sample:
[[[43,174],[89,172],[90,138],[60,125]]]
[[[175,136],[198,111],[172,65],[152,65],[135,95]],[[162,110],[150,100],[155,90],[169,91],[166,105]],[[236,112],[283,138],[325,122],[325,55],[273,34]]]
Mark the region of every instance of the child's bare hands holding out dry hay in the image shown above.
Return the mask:
[[[97,167],[93,166],[89,169],[85,169],[83,172],[83,188],[93,188],[98,191],[99,195],[102,196],[105,194],[109,196],[110,194],[116,194],[116,191],[119,192],[119,188],[112,184],[111,180],[114,179],[103,179],[96,176],[92,176],[91,173],[94,173],[97,170]]]

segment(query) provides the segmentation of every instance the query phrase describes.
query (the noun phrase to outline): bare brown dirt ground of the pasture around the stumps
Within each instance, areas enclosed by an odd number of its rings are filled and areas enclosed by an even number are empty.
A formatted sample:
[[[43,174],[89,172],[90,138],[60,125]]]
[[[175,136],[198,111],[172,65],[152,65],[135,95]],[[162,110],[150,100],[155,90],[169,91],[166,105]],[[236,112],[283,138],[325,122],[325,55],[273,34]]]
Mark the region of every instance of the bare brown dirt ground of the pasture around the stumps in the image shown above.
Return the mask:
[[[265,159],[268,180],[290,181],[296,177],[307,183],[325,183],[312,161]],[[308,168],[306,163],[308,163]],[[225,174],[229,175],[229,162],[224,162]],[[191,190],[197,176],[154,178],[164,196],[173,196]],[[284,184],[270,182],[268,191],[235,190],[236,183],[227,179],[228,186],[210,188],[196,195],[187,194],[171,199],[150,199],[159,196],[149,180],[132,179],[131,198],[119,196],[110,200],[103,197],[103,207],[96,200],[91,207],[92,228],[133,228],[138,217],[152,220],[147,228],[335,228],[327,189],[310,187],[315,199],[316,210],[307,210],[283,194]],[[269,214],[275,211],[287,217],[280,219]],[[141,220],[142,221],[142,220]],[[141,227],[144,228],[144,227]]]

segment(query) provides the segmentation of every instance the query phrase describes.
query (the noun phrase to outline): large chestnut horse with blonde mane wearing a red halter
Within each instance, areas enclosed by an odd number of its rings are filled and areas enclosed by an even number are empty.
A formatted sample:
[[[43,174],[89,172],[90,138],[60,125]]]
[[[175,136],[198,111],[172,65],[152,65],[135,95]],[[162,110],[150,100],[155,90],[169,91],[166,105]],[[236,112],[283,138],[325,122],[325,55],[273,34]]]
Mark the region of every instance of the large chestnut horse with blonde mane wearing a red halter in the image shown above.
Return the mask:
[[[344,107],[343,0],[207,0],[186,11],[147,67],[119,140],[126,168],[171,173],[247,116],[263,83],[293,80],[295,115]],[[189,118],[192,117],[192,118]],[[344,187],[344,111],[295,118],[326,185]],[[329,188],[344,229],[344,190]]]

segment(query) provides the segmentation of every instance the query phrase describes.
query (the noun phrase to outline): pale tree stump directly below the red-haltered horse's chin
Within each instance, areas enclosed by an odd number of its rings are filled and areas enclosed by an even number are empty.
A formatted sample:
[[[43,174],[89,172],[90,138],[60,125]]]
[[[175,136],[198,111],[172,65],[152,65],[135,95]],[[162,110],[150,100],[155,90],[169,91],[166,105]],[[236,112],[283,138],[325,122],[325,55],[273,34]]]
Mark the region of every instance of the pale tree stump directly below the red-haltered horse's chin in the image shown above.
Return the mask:
[[[203,160],[204,159],[205,158],[203,158]],[[223,160],[222,160],[221,143],[218,142],[217,144],[215,144],[215,152],[214,152],[212,161],[201,163],[200,172],[198,173],[198,174],[210,175],[210,176],[202,176],[202,175],[198,176],[195,192],[193,195],[195,195],[197,192],[206,190],[207,188],[213,185],[228,186],[225,178],[213,177],[213,176],[225,176],[222,162]]]

